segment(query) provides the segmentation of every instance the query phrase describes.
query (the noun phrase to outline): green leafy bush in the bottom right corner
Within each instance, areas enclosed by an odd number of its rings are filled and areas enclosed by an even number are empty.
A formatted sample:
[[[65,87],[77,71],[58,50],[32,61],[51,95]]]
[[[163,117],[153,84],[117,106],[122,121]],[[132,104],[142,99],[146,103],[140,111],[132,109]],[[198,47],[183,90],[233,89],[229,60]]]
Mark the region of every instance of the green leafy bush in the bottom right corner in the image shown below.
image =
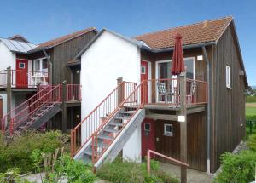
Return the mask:
[[[221,156],[222,171],[214,180],[220,183],[239,182],[247,183],[253,181],[255,174],[256,152],[247,150],[239,154],[225,152]]]

